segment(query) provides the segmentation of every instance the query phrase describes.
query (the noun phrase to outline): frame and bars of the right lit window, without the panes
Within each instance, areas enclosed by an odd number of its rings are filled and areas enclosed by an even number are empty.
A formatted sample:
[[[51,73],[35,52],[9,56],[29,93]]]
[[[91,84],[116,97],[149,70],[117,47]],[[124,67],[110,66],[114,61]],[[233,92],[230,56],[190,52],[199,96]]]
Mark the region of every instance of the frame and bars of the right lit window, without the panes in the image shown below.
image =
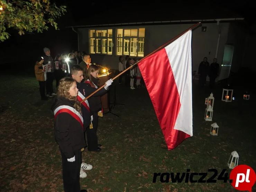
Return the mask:
[[[144,37],[139,37],[139,29],[145,29],[145,32],[146,32],[146,28],[145,27],[131,27],[131,28],[116,28],[116,37],[115,37],[115,41],[116,41],[116,46],[115,46],[115,56],[121,56],[121,55],[126,55],[124,54],[124,49],[125,49],[125,40],[124,39],[129,39],[129,45],[128,45],[128,49],[129,49],[129,57],[138,57],[138,58],[143,58],[145,56],[145,33],[144,33]],[[122,37],[118,37],[118,29],[122,29]],[[125,34],[125,30],[132,30],[132,29],[137,29],[138,32],[137,32],[137,36],[130,36],[130,37],[125,37],[124,34]],[[130,56],[130,49],[131,49],[131,38],[137,38],[137,42],[136,42],[136,54],[137,56]],[[138,51],[139,49],[141,49],[142,47],[139,47],[139,38],[144,38],[144,42],[143,42],[143,56],[138,56]],[[118,39],[122,39],[122,54],[121,55],[117,55],[117,50],[119,49],[120,46],[118,46]]]

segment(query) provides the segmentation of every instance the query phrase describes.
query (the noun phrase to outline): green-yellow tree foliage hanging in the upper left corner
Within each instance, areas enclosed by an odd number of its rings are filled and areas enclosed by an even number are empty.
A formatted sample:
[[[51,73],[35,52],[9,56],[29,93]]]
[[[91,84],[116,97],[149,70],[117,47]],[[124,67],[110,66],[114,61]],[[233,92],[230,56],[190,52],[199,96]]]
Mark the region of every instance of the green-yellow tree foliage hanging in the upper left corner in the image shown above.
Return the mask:
[[[0,40],[10,37],[8,28],[18,30],[20,35],[25,32],[42,33],[48,30],[47,25],[58,29],[56,19],[64,15],[66,6],[57,7],[49,0],[0,0]]]

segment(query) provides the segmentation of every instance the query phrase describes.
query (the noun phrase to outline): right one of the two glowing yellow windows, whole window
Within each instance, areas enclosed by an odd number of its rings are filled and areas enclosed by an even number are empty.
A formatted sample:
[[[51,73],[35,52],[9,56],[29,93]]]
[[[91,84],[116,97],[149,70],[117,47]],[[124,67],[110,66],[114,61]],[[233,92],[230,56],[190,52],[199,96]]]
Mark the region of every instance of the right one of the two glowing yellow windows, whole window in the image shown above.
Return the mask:
[[[144,57],[145,28],[117,29],[116,55]]]

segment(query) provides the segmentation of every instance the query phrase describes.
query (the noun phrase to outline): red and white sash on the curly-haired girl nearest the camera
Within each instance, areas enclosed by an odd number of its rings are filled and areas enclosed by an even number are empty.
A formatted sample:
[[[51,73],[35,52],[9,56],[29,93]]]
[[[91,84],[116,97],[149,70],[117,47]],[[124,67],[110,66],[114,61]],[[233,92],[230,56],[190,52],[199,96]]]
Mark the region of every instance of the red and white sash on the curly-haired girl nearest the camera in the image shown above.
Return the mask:
[[[67,105],[62,105],[62,106],[57,107],[54,110],[54,119],[56,119],[57,115],[60,114],[60,113],[68,113],[68,114],[70,114],[72,117],[74,117],[81,124],[82,128],[84,128],[83,117],[73,107],[70,107],[70,106],[67,106]]]

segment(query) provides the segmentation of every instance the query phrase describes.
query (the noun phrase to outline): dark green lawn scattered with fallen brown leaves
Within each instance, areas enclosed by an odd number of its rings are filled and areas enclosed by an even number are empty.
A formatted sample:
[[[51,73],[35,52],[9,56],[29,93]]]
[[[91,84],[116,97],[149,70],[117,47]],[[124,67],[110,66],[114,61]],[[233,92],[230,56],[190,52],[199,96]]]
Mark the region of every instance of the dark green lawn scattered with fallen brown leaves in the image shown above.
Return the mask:
[[[0,77],[0,185],[1,191],[63,191],[61,155],[54,141],[51,100],[40,101],[34,77]],[[117,82],[115,82],[117,83]],[[55,84],[55,83],[54,83]],[[93,165],[80,179],[88,191],[236,191],[230,183],[152,183],[155,172],[207,172],[228,169],[232,151],[239,163],[256,170],[255,102],[242,99],[222,102],[221,89],[213,91],[213,122],[219,136],[211,136],[205,122],[204,98],[210,90],[193,86],[193,137],[167,150],[155,111],[145,88],[130,90],[117,84],[113,113],[99,119],[102,152],[82,152],[83,162]],[[238,95],[240,96],[238,97]],[[171,115],[171,114],[170,114]],[[209,173],[209,178],[212,173]],[[196,177],[194,177],[196,179]],[[254,186],[253,190],[256,190]]]

